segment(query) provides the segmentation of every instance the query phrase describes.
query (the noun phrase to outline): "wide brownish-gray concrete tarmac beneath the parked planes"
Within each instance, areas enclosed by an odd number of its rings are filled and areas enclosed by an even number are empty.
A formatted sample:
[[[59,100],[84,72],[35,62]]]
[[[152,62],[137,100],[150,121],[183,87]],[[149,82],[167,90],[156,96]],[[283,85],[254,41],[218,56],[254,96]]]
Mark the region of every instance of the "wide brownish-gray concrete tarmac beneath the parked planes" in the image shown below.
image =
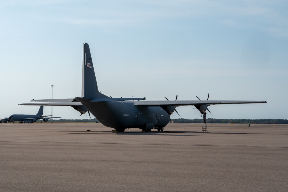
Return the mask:
[[[1,123],[0,191],[288,190],[288,125],[207,128]]]

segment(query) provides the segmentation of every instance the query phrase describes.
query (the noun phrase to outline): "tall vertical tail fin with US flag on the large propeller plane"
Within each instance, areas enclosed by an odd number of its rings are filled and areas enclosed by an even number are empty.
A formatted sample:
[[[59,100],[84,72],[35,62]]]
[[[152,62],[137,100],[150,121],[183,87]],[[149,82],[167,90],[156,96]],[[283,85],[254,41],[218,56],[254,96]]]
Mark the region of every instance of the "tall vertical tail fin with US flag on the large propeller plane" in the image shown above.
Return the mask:
[[[88,43],[83,43],[83,66],[82,66],[82,97],[84,98],[107,98],[98,90],[94,66]]]

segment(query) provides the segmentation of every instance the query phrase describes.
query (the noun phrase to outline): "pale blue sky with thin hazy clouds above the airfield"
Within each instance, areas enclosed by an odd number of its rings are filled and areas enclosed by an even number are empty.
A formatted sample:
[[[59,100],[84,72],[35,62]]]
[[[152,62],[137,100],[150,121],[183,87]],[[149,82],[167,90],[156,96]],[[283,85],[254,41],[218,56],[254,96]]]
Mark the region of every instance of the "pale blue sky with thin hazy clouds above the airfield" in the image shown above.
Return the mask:
[[[81,96],[86,42],[105,95],[266,100],[210,106],[207,118],[287,119],[287,1],[4,0],[0,8],[0,118],[36,114],[38,106],[18,104],[51,98],[50,85],[53,98]],[[200,118],[193,108],[177,111]],[[79,115],[53,107],[54,117]]]

